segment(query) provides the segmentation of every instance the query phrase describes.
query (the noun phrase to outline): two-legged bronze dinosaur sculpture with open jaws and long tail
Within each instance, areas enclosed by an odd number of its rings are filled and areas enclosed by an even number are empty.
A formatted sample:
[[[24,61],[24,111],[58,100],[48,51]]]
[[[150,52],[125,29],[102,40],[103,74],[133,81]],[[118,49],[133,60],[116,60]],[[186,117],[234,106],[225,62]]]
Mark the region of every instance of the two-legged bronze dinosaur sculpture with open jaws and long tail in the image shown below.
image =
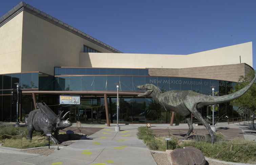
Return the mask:
[[[253,80],[246,87],[223,96],[208,96],[201,93],[194,92],[192,90],[171,90],[161,93],[161,90],[153,84],[139,85],[137,88],[145,89],[146,92],[138,94],[138,97],[151,97],[157,103],[162,105],[166,110],[174,111],[181,116],[186,117],[189,130],[186,136],[189,136],[193,131],[191,113],[206,127],[210,136],[212,144],[216,141],[216,136],[211,130],[209,124],[204,120],[202,115],[197,111],[198,108],[202,108],[208,105],[220,104],[229,102],[231,100],[241,97],[252,86],[256,79],[256,75]]]

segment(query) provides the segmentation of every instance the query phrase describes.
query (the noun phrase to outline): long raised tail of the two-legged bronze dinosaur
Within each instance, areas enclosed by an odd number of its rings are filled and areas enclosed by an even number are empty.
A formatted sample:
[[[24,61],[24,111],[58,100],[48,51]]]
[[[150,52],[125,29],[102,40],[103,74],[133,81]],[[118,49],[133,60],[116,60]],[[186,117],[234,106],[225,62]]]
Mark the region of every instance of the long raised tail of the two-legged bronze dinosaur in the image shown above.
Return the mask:
[[[220,104],[220,103],[225,103],[225,102],[235,100],[235,99],[241,97],[244,93],[246,93],[248,91],[248,89],[253,85],[255,80],[256,80],[256,74],[255,74],[253,80],[250,82],[250,84],[243,87],[242,89],[240,89],[234,93],[228,94],[228,95],[217,96],[217,97],[209,96],[209,97],[207,97],[207,99],[205,101],[200,102],[197,105],[197,107]]]

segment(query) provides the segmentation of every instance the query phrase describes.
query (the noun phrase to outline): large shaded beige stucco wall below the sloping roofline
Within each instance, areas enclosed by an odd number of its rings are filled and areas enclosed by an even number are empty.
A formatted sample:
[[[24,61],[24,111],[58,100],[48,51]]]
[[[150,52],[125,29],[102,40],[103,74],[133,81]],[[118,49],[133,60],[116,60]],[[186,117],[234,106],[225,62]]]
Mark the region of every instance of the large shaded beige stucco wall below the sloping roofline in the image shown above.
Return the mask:
[[[23,16],[21,72],[54,74],[54,66],[79,66],[83,45],[110,52],[26,11]]]

